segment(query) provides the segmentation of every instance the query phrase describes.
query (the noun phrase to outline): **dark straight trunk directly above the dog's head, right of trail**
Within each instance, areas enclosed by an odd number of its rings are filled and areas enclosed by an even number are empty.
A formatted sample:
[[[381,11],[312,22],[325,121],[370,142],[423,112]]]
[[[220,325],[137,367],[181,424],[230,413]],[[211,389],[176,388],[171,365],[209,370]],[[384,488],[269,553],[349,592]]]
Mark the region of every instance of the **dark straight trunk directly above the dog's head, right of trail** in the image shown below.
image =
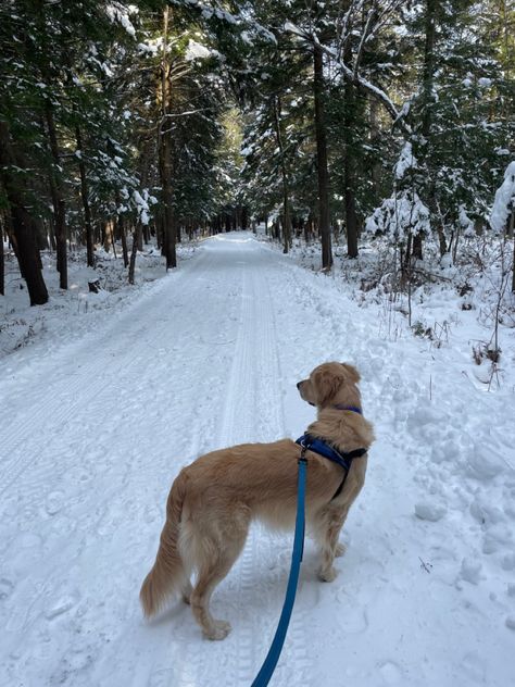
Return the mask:
[[[324,115],[324,60],[318,46],[313,48],[313,87],[315,96],[316,163],[318,172],[318,216],[322,239],[322,267],[330,270],[332,251],[329,226],[329,176],[327,172],[327,138]]]

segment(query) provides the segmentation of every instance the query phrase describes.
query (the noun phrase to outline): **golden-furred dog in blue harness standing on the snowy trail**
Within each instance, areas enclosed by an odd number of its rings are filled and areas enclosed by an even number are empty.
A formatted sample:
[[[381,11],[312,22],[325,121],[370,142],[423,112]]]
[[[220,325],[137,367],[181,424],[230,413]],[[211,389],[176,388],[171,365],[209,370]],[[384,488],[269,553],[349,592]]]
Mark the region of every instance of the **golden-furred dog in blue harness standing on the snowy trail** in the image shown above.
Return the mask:
[[[355,367],[330,362],[297,385],[301,398],[317,408],[309,435],[339,452],[367,450],[374,441],[373,426],[361,412],[359,382]],[[140,591],[147,617],[181,594],[205,637],[228,635],[229,623],[211,615],[211,596],[240,554],[253,520],[294,527],[300,452],[291,439],[242,444],[206,453],[180,471],[166,503],[158,555]],[[344,482],[337,463],[310,450],[306,459],[306,526],[321,547],[318,577],[331,582],[335,557],[344,553],[338,536],[363,487],[367,454],[352,462]]]

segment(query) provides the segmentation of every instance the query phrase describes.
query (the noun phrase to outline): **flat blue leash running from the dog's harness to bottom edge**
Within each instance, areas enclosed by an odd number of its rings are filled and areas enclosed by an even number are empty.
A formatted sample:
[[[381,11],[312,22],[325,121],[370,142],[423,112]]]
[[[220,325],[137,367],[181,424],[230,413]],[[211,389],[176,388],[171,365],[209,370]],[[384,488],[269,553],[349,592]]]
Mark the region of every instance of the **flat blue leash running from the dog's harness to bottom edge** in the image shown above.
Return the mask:
[[[274,640],[266,655],[266,659],[258,673],[256,678],[252,683],[252,687],[265,687],[274,674],[277,661],[279,660],[282,645],[285,644],[286,633],[290,623],[291,611],[296,600],[297,583],[299,582],[299,571],[304,553],[304,530],[305,530],[305,476],[307,461],[305,459],[306,447],[302,447],[302,453],[299,459],[299,473],[297,482],[297,519],[296,519],[296,536],[293,539],[293,553],[291,554],[291,570],[288,577],[288,586],[286,588],[285,605],[280,613],[279,624],[275,632]]]

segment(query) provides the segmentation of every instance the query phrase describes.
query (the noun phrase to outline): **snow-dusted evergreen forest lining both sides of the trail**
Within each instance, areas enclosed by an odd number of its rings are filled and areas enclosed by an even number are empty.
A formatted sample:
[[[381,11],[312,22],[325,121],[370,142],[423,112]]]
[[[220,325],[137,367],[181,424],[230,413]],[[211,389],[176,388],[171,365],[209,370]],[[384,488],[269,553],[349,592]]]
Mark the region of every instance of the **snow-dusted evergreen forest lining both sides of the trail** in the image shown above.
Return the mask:
[[[513,237],[506,0],[4,0],[0,46],[0,246],[33,305],[41,251],[61,289],[101,246],[134,283],[150,241],[169,270],[184,237],[264,223],[323,270],[379,237],[405,282]]]

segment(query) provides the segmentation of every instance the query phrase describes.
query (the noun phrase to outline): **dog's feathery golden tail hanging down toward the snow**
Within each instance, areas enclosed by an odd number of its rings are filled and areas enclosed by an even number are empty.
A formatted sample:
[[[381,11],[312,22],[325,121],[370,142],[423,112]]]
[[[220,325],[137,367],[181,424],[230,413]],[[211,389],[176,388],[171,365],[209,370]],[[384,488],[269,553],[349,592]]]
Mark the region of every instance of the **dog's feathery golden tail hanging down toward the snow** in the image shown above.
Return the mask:
[[[152,570],[145,578],[139,592],[147,617],[154,615],[188,579],[184,561],[178,549],[180,516],[186,496],[186,477],[180,473],[169,491],[166,503],[166,522]]]

